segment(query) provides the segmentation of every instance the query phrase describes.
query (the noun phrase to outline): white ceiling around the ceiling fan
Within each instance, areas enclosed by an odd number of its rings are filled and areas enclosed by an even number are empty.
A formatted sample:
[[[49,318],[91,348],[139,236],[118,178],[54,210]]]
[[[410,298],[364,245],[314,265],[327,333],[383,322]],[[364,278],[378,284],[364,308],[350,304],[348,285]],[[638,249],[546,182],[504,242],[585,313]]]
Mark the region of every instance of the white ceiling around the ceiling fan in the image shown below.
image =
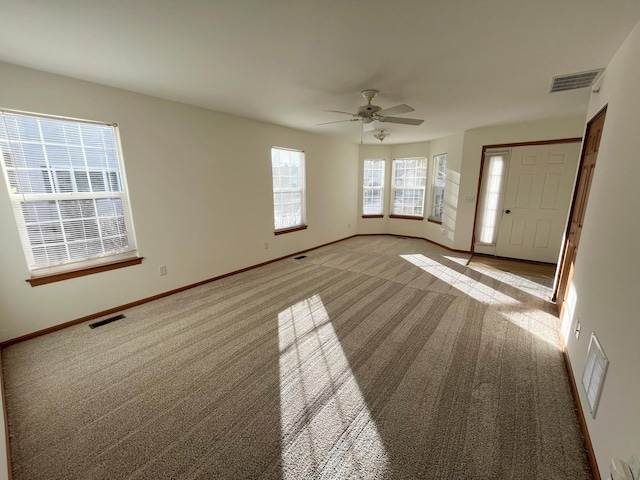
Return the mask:
[[[360,91],[407,103],[385,143],[586,114],[554,75],[606,67],[638,0],[0,0],[0,61],[359,142]],[[372,133],[365,143],[377,143]]]

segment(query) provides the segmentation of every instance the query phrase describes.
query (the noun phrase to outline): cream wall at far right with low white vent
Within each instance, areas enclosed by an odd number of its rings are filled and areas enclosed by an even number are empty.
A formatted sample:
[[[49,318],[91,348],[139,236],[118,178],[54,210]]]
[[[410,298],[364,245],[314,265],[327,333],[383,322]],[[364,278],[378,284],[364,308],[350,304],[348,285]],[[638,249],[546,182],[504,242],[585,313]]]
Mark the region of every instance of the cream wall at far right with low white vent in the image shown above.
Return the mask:
[[[640,454],[640,23],[607,67],[588,118],[608,105],[580,237],[573,288],[579,340],[566,336],[589,434],[603,478],[612,456]],[[569,328],[566,328],[569,326]],[[582,373],[591,332],[609,358],[600,405],[591,417]]]

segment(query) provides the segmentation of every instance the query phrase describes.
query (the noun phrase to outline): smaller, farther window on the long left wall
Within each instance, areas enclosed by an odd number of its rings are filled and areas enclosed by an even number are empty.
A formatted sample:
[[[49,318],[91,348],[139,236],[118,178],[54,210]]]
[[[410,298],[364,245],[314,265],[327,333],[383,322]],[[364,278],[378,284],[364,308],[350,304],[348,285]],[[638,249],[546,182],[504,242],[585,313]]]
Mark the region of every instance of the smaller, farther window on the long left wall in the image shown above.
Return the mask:
[[[276,231],[304,228],[304,152],[274,147],[271,168]]]

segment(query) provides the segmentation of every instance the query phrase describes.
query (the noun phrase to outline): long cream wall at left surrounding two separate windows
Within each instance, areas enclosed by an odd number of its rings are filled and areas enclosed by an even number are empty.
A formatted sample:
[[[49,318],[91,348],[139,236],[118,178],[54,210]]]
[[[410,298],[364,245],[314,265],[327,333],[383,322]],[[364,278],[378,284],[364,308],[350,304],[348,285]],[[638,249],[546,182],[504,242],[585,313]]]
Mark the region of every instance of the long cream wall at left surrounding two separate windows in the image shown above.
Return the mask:
[[[357,145],[8,64],[0,77],[0,107],[119,124],[145,257],[31,287],[2,181],[0,341],[355,233]],[[305,231],[273,234],[273,145],[306,152]]]

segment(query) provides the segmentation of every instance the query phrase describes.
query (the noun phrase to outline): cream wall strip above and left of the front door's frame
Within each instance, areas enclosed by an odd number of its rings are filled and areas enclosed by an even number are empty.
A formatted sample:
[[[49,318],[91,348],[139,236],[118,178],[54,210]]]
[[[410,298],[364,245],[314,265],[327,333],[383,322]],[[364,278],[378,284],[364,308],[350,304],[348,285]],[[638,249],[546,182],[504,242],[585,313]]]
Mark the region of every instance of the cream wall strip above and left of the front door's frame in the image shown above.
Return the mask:
[[[471,249],[483,146],[582,137],[584,122],[585,117],[579,115],[467,130],[460,170],[454,248]]]

